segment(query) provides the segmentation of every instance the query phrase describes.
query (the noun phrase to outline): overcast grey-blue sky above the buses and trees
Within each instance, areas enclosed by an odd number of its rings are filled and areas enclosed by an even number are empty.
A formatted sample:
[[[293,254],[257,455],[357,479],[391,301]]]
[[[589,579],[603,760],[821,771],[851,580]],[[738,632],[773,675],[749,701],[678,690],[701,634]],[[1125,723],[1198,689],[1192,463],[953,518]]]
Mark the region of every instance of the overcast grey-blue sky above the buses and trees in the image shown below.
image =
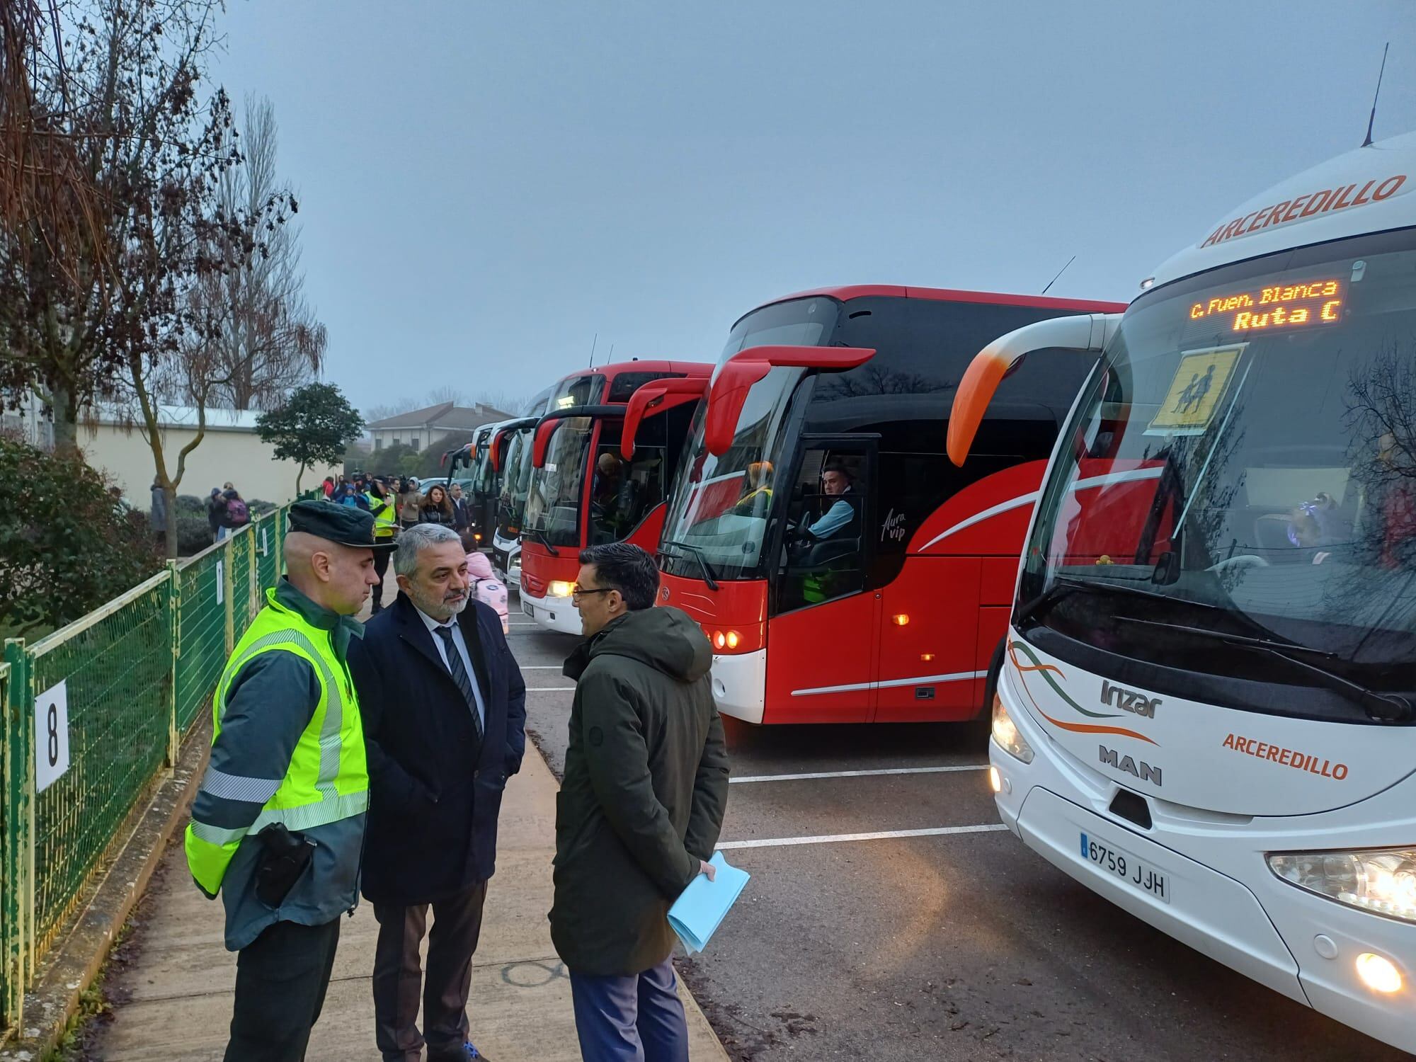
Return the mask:
[[[1416,129],[1416,1],[228,0],[327,378],[361,408],[712,361],[821,285],[1129,300],[1209,222]]]

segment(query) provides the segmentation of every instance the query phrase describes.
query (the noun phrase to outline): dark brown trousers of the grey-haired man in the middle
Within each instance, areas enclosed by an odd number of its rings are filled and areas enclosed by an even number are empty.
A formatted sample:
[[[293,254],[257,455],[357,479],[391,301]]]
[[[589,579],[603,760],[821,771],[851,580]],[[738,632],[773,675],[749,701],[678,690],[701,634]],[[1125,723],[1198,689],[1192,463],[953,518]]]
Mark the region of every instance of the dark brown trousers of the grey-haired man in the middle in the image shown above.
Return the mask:
[[[428,1044],[428,1062],[466,1059],[467,990],[472,987],[472,953],[481,933],[481,905],[487,882],[429,903],[401,906],[375,903],[378,944],[374,950],[374,1041],[385,1062],[418,1062]],[[428,976],[418,961],[418,947],[428,930]],[[423,1004],[423,1031],[418,1032],[418,1001]]]

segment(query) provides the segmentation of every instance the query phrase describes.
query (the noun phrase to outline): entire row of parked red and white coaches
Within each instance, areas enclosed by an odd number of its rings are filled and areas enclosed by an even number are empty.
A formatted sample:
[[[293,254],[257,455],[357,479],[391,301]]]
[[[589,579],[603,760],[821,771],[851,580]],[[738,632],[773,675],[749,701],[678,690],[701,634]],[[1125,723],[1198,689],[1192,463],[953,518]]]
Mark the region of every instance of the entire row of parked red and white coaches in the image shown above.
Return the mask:
[[[1416,135],[1129,304],[862,285],[572,372],[467,462],[521,609],[657,554],[748,724],[963,721],[1031,848],[1416,1051]],[[455,462],[455,467],[456,467]]]

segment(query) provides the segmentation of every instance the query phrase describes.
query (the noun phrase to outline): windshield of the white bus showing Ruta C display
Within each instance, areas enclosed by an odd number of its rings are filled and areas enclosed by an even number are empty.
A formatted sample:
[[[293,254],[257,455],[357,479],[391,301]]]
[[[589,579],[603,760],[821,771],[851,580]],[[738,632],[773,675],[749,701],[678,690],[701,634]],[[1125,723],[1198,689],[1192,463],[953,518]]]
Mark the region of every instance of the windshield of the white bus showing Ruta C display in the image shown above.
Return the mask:
[[[1416,688],[1413,276],[1403,229],[1141,296],[1062,433],[1020,630],[1191,697],[1175,675],[1279,683],[1229,700],[1270,714],[1307,714],[1311,667]]]

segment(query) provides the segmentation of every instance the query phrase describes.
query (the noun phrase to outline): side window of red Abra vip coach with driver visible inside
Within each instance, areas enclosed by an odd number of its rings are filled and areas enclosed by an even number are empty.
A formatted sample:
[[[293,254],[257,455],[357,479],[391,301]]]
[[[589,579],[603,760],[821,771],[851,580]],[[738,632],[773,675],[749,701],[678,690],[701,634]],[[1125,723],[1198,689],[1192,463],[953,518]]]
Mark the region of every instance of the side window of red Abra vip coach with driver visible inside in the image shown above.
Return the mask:
[[[865,589],[872,446],[830,442],[801,452],[779,579],[779,610]]]

